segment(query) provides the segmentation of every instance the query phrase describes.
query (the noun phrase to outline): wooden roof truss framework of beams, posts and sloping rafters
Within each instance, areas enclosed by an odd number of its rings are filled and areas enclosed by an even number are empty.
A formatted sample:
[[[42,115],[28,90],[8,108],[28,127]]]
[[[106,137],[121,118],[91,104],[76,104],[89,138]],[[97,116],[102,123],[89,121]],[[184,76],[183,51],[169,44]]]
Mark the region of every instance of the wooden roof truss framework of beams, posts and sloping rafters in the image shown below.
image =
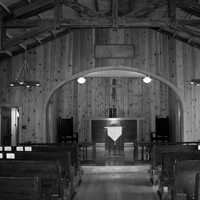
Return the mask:
[[[25,2],[25,3],[24,3]],[[4,44],[5,52],[9,51],[13,47],[22,47],[22,43],[26,40],[33,39],[35,43],[42,44],[41,40],[37,36],[47,32],[51,38],[56,37],[56,32],[60,29],[76,29],[76,28],[153,28],[154,30],[162,30],[171,34],[176,39],[182,40],[188,44],[197,43],[200,45],[200,32],[196,29],[190,28],[190,26],[200,26],[200,20],[177,20],[176,19],[176,6],[182,7],[181,9],[187,9],[192,14],[200,15],[200,4],[194,3],[190,6],[186,4],[191,0],[154,0],[152,4],[147,5],[139,10],[135,10],[123,17],[118,16],[118,0],[112,0],[112,14],[106,16],[101,12],[91,9],[85,5],[73,0],[26,0],[20,1],[19,4],[10,6],[9,9],[12,12],[12,16],[7,18],[2,28],[23,28],[31,29],[25,31],[22,35],[15,36],[8,39]],[[168,3],[168,4],[167,4]],[[73,19],[64,19],[62,10],[63,5],[70,7],[80,14],[81,17]],[[161,18],[159,20],[150,19],[149,15],[162,6],[168,5],[168,18]],[[187,7],[187,8],[186,8]],[[26,19],[31,16],[38,16],[44,11],[54,9],[54,19]],[[199,9],[199,10],[198,10]],[[185,10],[186,11],[186,10]],[[195,11],[195,12],[194,12]],[[139,17],[138,17],[139,16]],[[143,17],[142,17],[143,16]],[[39,37],[40,38],[40,37]]]

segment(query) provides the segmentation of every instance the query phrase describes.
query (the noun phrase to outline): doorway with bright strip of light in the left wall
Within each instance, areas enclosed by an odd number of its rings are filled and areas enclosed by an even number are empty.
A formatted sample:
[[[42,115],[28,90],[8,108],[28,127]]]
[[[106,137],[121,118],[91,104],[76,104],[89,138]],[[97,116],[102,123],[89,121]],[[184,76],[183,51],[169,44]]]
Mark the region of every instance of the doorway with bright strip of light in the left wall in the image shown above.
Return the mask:
[[[19,143],[19,118],[18,107],[0,107],[1,145],[16,146]]]

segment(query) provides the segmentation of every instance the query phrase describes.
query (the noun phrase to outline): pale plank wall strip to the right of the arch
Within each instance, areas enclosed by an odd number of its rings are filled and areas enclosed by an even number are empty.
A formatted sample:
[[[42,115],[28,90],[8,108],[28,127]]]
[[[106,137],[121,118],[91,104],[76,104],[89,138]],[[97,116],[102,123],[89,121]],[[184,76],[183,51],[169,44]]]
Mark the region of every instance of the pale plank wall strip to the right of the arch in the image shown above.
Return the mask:
[[[200,51],[176,42],[177,86],[184,98],[184,141],[200,140],[200,87],[190,80],[200,77]]]

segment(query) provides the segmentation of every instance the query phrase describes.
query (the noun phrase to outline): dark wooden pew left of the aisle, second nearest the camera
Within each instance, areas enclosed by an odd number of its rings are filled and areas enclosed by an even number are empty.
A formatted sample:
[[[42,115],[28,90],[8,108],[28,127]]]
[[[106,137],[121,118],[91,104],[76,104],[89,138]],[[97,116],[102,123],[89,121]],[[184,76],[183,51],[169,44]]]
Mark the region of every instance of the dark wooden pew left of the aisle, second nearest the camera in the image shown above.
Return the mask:
[[[41,179],[44,200],[64,198],[64,183],[59,161],[0,161],[0,177],[35,177]]]

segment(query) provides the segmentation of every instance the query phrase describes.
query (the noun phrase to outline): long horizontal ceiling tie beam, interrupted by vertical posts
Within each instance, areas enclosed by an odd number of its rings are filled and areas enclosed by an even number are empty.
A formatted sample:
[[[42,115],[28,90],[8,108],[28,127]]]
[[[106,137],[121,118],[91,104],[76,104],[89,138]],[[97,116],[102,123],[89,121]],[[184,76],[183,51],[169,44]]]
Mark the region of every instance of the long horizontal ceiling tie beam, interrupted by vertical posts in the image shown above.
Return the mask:
[[[6,28],[31,28],[38,26],[53,26],[53,19],[37,20],[12,20],[5,23]],[[136,28],[136,27],[160,27],[169,24],[168,18],[160,20],[148,20],[146,18],[123,17],[118,19],[119,28]],[[76,19],[63,19],[60,21],[61,27],[69,28],[113,28],[112,17],[81,17]]]

